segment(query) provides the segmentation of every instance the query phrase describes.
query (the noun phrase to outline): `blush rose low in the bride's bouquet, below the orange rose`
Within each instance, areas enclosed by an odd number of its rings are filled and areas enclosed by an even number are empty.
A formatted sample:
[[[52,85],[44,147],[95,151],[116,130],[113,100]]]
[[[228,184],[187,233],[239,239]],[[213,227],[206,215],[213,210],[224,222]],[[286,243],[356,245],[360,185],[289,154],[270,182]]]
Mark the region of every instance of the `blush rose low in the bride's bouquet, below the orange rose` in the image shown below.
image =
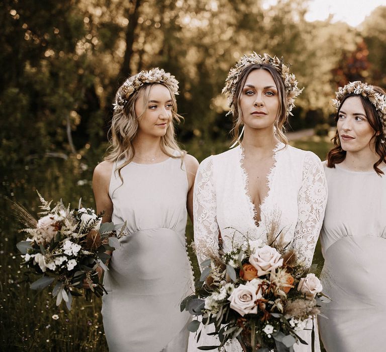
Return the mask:
[[[245,314],[257,313],[256,300],[260,297],[261,293],[259,293],[259,296],[256,295],[256,288],[248,282],[246,285],[236,287],[229,296],[228,301],[231,302],[230,307],[233,310],[244,316]]]

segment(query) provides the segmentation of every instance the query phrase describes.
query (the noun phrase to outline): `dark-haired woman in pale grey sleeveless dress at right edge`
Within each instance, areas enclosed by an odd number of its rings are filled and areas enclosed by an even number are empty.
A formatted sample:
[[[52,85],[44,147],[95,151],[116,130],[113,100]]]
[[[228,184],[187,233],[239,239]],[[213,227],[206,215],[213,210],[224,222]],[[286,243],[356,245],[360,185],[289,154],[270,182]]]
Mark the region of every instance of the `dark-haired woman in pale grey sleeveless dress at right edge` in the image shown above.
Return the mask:
[[[328,352],[386,346],[386,97],[351,82],[336,93],[335,147],[325,163],[328,202],[321,232],[323,292],[319,317]]]

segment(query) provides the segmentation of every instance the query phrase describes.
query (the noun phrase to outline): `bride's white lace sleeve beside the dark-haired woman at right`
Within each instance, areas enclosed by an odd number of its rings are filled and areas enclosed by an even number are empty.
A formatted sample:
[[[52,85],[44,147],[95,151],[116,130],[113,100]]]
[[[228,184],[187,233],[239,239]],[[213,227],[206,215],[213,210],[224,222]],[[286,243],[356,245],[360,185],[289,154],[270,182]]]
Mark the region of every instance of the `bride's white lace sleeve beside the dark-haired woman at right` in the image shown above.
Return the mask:
[[[298,194],[298,222],[295,228],[295,250],[311,266],[316,242],[322,227],[327,202],[327,183],[320,159],[309,153],[303,164],[302,186]]]

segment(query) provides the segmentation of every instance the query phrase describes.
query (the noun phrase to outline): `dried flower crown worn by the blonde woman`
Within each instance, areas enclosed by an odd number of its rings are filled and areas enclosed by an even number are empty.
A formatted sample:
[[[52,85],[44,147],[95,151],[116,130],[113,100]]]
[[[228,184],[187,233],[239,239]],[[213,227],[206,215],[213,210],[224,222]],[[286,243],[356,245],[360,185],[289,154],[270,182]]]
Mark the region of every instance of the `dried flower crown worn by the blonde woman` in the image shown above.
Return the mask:
[[[163,83],[170,88],[174,95],[178,95],[178,81],[175,77],[162,68],[155,67],[149,71],[140,71],[125,80],[117,93],[115,103],[113,103],[114,111],[123,112],[129,97],[146,83]]]

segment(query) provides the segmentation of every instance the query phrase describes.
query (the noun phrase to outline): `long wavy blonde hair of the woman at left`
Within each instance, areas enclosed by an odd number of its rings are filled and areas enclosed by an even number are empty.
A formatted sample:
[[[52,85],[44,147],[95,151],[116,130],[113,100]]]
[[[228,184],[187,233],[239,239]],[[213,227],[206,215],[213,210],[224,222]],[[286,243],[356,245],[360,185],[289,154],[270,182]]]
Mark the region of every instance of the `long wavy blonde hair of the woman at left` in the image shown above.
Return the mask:
[[[175,138],[174,123],[179,123],[183,117],[177,114],[177,103],[172,90],[163,82],[146,83],[130,95],[123,110],[114,111],[111,127],[109,129],[110,145],[108,147],[108,155],[105,157],[105,160],[111,162],[116,162],[122,159],[125,160],[115,169],[115,172],[118,172],[119,174],[122,184],[123,179],[121,170],[123,167],[128,165],[135,156],[135,149],[132,141],[138,133],[138,121],[141,120],[146,112],[150,91],[152,86],[155,84],[162,84],[167,88],[170,93],[172,104],[172,121],[166,129],[166,134],[161,137],[161,150],[163,153],[172,158],[181,158],[181,163],[184,155],[186,154],[186,152],[178,146]],[[116,101],[118,95],[121,94],[122,87],[123,85],[121,85],[118,89],[114,101]],[[140,98],[141,93],[143,93],[143,113],[140,116],[137,116],[135,113],[135,102]],[[177,153],[175,153],[175,151],[177,151]]]

